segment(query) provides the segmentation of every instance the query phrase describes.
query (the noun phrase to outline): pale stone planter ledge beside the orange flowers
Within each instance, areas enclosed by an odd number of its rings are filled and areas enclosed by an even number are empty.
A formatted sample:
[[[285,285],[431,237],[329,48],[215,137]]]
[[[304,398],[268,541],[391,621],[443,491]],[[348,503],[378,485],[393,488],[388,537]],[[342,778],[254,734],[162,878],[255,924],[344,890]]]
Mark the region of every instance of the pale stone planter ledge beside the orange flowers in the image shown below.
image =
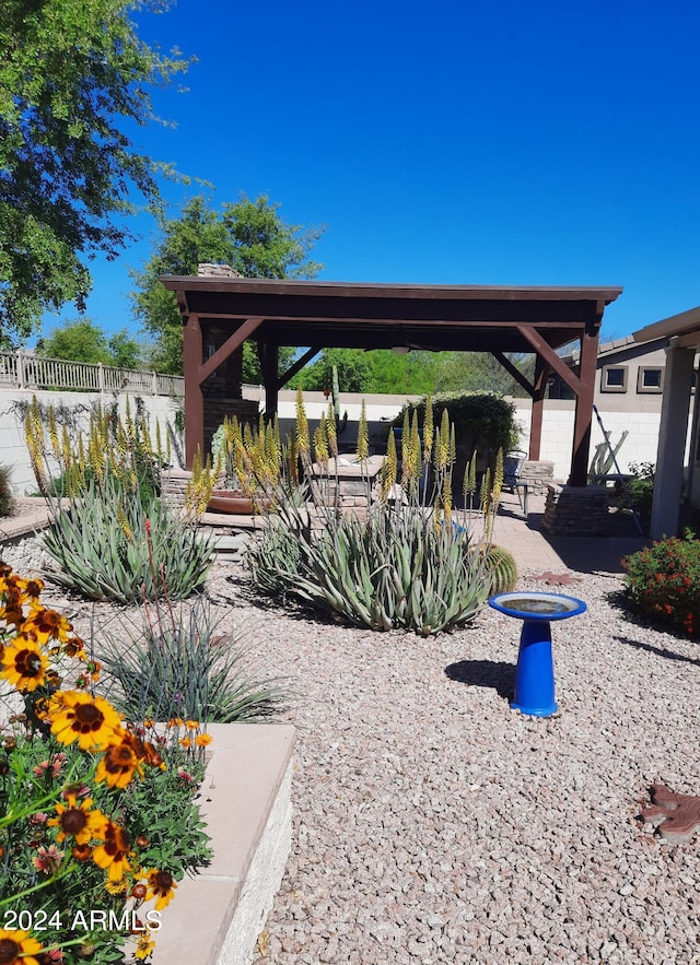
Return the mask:
[[[202,813],[213,859],[161,913],[154,965],[248,965],[292,839],[294,728],[212,723]]]

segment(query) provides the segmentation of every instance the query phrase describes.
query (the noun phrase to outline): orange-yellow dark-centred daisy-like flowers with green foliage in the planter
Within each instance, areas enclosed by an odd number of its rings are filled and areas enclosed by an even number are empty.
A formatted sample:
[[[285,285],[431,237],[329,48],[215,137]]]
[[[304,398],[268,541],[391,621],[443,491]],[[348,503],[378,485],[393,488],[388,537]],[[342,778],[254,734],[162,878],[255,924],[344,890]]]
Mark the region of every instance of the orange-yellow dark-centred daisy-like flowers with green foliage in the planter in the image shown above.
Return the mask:
[[[125,720],[42,590],[0,564],[0,961],[148,961],[177,882],[210,857],[195,802],[210,739]]]

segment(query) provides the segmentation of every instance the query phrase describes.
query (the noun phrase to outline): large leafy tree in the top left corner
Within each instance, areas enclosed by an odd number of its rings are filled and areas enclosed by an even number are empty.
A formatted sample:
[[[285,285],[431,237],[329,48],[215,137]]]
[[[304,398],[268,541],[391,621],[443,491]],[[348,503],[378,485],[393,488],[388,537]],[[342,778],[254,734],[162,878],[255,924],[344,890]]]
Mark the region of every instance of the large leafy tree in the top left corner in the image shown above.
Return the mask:
[[[127,125],[152,118],[149,89],[186,68],[139,39],[150,0],[3,0],[0,16],[0,326],[26,338],[75,301],[85,258],[114,258],[136,191],[158,205],[159,165]]]

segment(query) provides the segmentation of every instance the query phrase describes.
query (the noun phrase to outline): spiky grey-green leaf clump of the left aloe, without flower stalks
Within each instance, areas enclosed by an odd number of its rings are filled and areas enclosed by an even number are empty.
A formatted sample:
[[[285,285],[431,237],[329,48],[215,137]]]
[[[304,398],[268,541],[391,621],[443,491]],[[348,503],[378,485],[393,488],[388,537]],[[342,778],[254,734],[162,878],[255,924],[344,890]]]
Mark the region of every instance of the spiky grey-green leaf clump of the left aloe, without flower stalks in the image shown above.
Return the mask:
[[[165,592],[199,590],[212,561],[211,540],[160,499],[141,502],[124,480],[85,485],[70,508],[56,509],[44,545],[60,567],[51,579],[91,600],[133,603]]]

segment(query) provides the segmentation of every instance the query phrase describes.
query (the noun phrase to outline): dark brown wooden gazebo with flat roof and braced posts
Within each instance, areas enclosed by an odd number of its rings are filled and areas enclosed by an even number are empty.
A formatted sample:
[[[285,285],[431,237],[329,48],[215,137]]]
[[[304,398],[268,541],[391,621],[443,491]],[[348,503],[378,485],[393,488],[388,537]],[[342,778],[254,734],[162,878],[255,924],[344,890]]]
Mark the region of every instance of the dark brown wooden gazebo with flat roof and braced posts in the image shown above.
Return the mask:
[[[553,369],[576,398],[570,481],[586,484],[598,333],[605,307],[621,287],[288,281],[219,272],[161,281],[176,293],[183,315],[188,467],[210,436],[206,408],[217,400],[218,422],[228,404],[235,411],[242,346],[253,339],[268,416],[277,409],[279,390],[322,349],[491,352],[533,399],[530,459],[539,458],[547,377]],[[580,340],[576,370],[557,354],[574,340]],[[282,374],[280,345],[307,348]],[[532,383],[513,366],[509,352],[535,354]]]

